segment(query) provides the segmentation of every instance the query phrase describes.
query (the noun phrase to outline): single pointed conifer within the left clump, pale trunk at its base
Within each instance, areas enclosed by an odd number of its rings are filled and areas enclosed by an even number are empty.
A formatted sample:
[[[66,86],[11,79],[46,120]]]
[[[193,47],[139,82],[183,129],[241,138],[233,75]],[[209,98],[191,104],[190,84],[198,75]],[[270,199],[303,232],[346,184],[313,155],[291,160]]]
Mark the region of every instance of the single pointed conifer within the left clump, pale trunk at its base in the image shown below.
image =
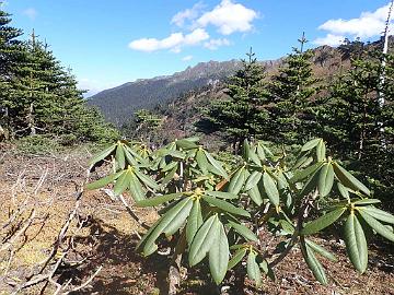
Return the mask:
[[[60,82],[59,61],[47,50],[47,46],[32,34],[25,43],[20,67],[12,79],[10,111],[16,127],[15,133],[31,134],[50,132],[53,115],[57,111],[55,90]]]

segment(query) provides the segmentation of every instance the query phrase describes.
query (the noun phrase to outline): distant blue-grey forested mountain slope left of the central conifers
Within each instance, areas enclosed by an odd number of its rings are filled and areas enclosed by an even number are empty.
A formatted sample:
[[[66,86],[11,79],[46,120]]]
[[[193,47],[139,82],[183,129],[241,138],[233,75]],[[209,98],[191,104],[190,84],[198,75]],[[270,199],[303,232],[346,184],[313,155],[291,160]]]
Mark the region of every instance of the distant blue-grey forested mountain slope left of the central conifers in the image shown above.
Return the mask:
[[[280,64],[279,60],[263,62],[268,69]],[[120,126],[140,108],[153,108],[165,104],[181,94],[216,84],[233,74],[240,67],[239,60],[200,62],[173,75],[137,80],[105,90],[89,98],[97,106],[107,120]]]

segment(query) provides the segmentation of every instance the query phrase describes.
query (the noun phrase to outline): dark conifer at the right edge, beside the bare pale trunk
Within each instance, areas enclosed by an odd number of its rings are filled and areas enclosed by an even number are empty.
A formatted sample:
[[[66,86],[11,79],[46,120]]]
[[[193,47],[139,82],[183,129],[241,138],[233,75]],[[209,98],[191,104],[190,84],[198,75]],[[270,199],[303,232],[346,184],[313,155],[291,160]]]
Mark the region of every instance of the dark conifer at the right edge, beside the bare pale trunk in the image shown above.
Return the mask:
[[[320,102],[324,107],[318,113],[318,133],[349,167],[368,174],[384,198],[394,192],[394,55],[385,55],[383,84],[382,52],[363,49],[357,57],[331,86],[328,97]],[[385,97],[384,105],[379,102],[380,94]],[[390,200],[387,205],[394,209]]]

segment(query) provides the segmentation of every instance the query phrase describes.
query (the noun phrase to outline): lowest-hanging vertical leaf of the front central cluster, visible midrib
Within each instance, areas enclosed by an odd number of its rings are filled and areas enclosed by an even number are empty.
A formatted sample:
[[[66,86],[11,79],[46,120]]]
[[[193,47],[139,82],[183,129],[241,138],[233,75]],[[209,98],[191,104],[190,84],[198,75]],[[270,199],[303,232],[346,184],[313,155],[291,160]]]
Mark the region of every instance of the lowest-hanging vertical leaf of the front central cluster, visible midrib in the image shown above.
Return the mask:
[[[216,240],[209,249],[209,270],[213,281],[219,285],[223,281],[229,266],[229,241],[224,226],[219,222]]]

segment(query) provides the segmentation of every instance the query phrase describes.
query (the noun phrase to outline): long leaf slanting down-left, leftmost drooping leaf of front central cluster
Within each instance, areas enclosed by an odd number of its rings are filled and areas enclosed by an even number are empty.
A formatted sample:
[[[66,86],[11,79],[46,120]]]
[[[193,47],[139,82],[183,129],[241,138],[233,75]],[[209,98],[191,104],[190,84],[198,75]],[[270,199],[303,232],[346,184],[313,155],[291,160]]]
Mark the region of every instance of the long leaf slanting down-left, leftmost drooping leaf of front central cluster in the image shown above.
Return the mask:
[[[150,249],[150,247],[152,246],[152,244],[154,244],[154,241],[158,239],[158,237],[163,233],[163,231],[171,224],[171,223],[175,223],[178,224],[177,222],[179,221],[178,214],[181,213],[181,217],[184,216],[184,211],[183,210],[190,210],[192,209],[192,199],[190,198],[186,198],[181,200],[178,203],[176,203],[173,208],[171,208],[165,215],[163,215],[162,219],[160,219],[160,223],[155,226],[154,231],[152,231],[149,235],[149,237],[147,237],[147,240],[144,241],[144,247],[143,247],[143,252],[146,255],[148,255],[148,250]],[[173,227],[174,228],[174,227]],[[173,229],[170,228],[170,229]],[[169,231],[169,228],[167,228]]]

